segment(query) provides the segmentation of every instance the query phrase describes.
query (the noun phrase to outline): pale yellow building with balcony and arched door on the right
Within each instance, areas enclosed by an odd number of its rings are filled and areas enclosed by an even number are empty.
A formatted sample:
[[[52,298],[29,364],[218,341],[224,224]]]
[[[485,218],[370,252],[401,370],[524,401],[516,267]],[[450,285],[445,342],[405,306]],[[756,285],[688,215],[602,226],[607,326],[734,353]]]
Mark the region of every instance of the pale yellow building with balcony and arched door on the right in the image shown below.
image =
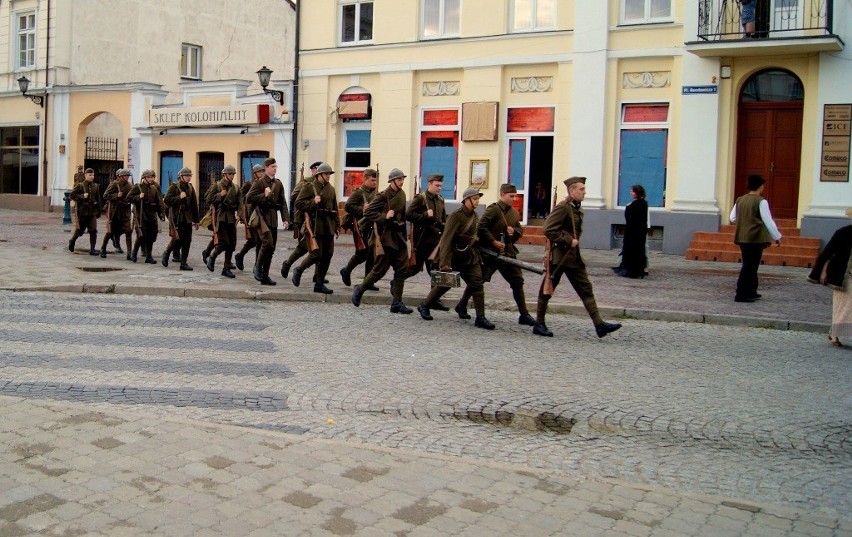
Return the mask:
[[[641,183],[669,253],[760,173],[776,217],[824,237],[852,205],[849,138],[825,139],[848,134],[852,7],[756,4],[744,38],[735,1],[303,2],[297,159],[332,163],[343,197],[377,165],[443,173],[449,199],[511,182],[527,223],[583,175],[595,248]]]

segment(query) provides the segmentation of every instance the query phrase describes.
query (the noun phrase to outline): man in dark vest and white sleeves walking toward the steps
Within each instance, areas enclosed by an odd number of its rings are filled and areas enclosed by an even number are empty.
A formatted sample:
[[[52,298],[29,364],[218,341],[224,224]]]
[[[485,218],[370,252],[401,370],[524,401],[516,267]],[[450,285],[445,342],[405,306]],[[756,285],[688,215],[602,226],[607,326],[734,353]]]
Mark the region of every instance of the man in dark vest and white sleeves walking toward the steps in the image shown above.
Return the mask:
[[[769,203],[761,197],[766,181],[759,175],[748,176],[748,193],[737,198],[731,209],[731,222],[737,225],[734,243],[742,254],[740,277],[737,279],[735,302],[754,302],[757,293],[757,269],[763,257],[763,249],[772,244],[781,244],[781,233],[772,220]]]

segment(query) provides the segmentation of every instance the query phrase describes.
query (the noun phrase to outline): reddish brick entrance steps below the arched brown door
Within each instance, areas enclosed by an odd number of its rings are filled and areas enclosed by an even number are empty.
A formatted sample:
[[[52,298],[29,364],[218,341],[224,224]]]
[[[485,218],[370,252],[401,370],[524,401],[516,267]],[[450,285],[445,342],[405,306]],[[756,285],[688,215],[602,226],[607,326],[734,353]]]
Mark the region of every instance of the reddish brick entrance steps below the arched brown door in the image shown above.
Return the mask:
[[[795,219],[776,219],[781,232],[781,246],[763,251],[763,264],[810,268],[819,254],[820,239],[802,237]],[[727,261],[739,263],[740,247],[734,244],[736,225],[722,226],[718,232],[697,231],[692,236],[686,258],[691,261]]]

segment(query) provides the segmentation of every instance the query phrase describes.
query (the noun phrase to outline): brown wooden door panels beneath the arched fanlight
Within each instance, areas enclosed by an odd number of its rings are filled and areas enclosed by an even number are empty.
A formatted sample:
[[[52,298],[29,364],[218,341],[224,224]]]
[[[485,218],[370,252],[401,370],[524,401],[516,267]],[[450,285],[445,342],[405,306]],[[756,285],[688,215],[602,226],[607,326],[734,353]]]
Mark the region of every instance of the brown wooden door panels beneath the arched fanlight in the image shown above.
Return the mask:
[[[766,179],[763,197],[775,218],[796,218],[802,156],[802,103],[742,103],[734,198],[751,174]]]

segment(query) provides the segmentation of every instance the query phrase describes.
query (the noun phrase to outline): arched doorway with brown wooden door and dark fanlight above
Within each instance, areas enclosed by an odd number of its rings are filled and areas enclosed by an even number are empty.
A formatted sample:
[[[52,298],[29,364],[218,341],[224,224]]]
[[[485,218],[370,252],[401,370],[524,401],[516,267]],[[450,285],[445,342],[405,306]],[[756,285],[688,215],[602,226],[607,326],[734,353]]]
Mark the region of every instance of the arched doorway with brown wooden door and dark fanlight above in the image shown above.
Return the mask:
[[[737,122],[734,199],[746,192],[746,178],[766,179],[763,197],[773,216],[796,218],[802,156],[802,82],[789,71],[768,69],[743,85]]]

